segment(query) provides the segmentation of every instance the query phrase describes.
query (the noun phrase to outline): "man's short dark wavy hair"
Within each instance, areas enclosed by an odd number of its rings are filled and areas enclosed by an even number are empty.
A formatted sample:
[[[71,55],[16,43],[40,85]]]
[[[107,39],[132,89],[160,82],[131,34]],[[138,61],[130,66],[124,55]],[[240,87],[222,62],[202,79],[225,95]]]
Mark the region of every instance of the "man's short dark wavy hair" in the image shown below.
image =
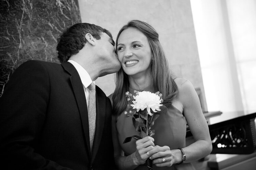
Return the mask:
[[[100,26],[90,23],[76,23],[67,28],[58,38],[56,50],[60,63],[68,61],[72,55],[77,54],[84,47],[87,42],[85,39],[87,33],[96,39],[100,39],[102,33],[106,33],[112,38],[111,33]]]

